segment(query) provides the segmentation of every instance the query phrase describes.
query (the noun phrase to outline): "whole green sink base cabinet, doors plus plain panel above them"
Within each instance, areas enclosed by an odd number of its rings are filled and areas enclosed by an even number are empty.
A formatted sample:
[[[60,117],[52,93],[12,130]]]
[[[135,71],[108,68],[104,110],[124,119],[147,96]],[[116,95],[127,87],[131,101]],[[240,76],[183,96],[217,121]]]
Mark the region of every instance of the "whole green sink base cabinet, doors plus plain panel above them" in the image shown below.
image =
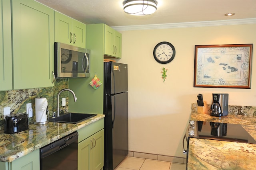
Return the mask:
[[[104,165],[104,119],[78,130],[78,170],[100,170]]]

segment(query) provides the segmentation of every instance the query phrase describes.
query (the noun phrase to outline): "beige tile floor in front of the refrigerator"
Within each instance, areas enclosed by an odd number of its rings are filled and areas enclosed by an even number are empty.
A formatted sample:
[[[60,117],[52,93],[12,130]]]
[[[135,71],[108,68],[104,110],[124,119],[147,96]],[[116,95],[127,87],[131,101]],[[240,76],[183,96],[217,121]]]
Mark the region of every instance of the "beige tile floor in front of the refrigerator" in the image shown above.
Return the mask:
[[[114,170],[186,170],[186,165],[127,156]]]

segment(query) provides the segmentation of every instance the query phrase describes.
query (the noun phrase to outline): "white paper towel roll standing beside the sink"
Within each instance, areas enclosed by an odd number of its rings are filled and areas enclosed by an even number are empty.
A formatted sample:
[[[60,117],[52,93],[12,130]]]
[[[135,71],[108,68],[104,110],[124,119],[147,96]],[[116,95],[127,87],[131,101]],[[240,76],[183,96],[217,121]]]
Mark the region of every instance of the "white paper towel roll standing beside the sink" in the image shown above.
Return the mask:
[[[48,102],[46,98],[36,98],[36,122],[46,122],[46,108]]]

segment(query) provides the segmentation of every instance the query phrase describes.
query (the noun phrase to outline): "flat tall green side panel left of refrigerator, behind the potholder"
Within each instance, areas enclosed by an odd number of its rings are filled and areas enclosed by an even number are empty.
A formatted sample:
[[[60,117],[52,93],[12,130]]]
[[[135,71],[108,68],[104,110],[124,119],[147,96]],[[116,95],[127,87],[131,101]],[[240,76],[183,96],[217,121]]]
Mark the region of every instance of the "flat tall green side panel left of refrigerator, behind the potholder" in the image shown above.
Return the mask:
[[[86,25],[86,48],[90,49],[90,77],[70,78],[68,87],[72,89],[77,97],[68,101],[70,112],[76,113],[102,113],[103,114],[103,56],[104,56],[104,24]],[[102,82],[96,90],[90,86],[94,74]],[[69,94],[70,95],[70,94]]]

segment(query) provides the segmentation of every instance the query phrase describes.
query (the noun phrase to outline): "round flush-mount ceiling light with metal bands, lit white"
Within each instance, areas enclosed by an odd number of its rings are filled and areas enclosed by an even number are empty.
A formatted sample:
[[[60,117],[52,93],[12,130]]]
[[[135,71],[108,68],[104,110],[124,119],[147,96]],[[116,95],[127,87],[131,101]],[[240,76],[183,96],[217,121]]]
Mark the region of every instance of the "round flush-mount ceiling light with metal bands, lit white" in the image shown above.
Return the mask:
[[[145,16],[156,11],[156,0],[125,0],[124,12],[131,15]]]

